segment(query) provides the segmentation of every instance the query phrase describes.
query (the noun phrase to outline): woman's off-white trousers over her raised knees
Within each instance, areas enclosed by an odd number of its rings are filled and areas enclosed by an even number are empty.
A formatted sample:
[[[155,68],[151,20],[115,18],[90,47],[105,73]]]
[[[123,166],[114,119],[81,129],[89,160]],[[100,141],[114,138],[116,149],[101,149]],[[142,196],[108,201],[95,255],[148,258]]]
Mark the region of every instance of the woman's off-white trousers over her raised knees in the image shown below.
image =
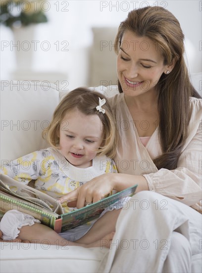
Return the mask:
[[[202,214],[154,192],[137,193],[118,217],[99,272],[202,272]]]

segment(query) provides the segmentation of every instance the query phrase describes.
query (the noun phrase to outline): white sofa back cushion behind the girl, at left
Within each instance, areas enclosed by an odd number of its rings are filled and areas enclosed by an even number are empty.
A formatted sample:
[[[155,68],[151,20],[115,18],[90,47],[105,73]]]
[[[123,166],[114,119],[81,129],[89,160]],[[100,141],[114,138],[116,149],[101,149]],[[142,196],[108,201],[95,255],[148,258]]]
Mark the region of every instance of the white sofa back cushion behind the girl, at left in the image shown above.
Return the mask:
[[[0,165],[49,146],[42,131],[50,123],[59,92],[48,82],[0,82]]]

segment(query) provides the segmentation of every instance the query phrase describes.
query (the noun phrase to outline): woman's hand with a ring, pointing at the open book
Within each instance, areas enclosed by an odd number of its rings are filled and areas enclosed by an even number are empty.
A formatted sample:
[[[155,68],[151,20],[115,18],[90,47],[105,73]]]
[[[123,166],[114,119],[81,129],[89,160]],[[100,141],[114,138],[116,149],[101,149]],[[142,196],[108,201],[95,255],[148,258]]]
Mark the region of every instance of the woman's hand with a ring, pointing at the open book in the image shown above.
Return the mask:
[[[77,208],[85,206],[85,203],[98,202],[113,190],[113,180],[115,175],[116,174],[113,173],[102,174],[78,187],[76,190],[64,195],[59,199],[59,201],[60,203],[67,203],[68,206],[74,201],[74,205],[76,202]]]

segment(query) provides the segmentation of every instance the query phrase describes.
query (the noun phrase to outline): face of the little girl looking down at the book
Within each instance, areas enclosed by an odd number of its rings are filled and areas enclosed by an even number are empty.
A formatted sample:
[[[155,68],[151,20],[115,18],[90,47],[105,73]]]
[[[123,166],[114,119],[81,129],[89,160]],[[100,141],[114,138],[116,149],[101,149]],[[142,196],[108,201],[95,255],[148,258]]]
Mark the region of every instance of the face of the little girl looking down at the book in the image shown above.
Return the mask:
[[[62,155],[78,168],[92,166],[95,151],[101,146],[103,130],[97,115],[84,115],[75,109],[64,116],[59,130]]]

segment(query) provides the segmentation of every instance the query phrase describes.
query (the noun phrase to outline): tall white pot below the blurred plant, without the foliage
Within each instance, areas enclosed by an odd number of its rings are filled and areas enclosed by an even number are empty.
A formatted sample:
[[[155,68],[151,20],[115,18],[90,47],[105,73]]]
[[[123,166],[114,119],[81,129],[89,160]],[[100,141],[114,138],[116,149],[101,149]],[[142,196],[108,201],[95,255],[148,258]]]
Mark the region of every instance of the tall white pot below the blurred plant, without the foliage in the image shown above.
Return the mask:
[[[35,24],[12,28],[17,70],[30,70],[32,68],[35,29]]]

